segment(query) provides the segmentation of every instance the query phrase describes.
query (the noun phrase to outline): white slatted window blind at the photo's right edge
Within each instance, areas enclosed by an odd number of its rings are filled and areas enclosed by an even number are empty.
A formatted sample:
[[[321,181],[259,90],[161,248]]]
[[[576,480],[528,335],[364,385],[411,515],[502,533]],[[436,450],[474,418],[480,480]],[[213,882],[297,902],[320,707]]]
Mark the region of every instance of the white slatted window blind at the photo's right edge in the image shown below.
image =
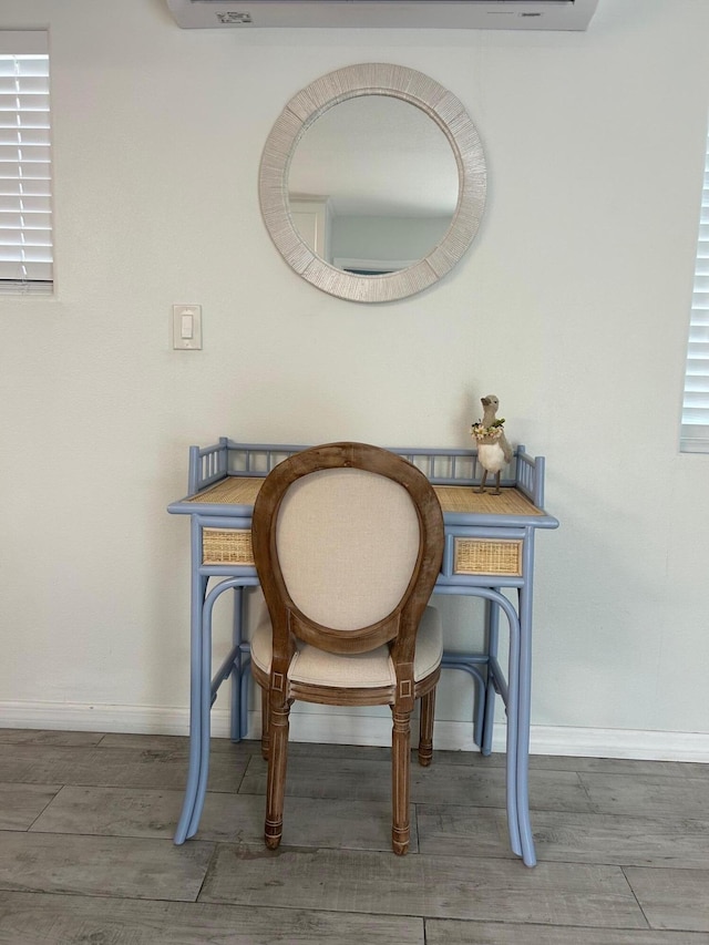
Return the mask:
[[[687,345],[681,449],[709,453],[709,134]]]

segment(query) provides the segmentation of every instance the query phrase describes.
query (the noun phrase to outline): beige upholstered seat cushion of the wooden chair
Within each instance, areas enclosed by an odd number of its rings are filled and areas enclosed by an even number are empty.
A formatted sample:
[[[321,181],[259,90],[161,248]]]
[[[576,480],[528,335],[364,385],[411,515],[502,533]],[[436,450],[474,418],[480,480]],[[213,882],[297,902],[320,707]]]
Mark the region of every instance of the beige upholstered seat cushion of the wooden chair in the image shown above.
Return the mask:
[[[441,617],[435,607],[427,607],[417,635],[414,680],[424,679],[432,672],[441,662],[442,655]],[[266,608],[251,637],[251,659],[263,672],[270,672],[271,627]],[[290,662],[288,678],[292,682],[345,688],[393,686],[397,681],[387,645],[370,653],[343,656],[326,653],[300,641],[298,653]]]

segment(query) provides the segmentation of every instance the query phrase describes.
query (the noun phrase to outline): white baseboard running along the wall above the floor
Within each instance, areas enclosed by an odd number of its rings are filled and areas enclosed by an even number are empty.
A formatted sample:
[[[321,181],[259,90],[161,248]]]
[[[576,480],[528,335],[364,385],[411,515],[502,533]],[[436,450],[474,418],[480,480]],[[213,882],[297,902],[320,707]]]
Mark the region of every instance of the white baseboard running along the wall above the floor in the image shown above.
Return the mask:
[[[189,716],[184,708],[0,702],[0,728],[187,735],[188,727]],[[212,732],[216,738],[229,737],[226,710],[213,710]],[[260,712],[249,712],[248,737],[256,738],[259,733]],[[294,741],[388,746],[391,743],[391,721],[387,716],[292,712],[290,737]],[[438,749],[451,751],[475,751],[472,725],[436,721],[434,744]],[[504,751],[504,748],[503,722],[495,725],[493,751]],[[709,762],[709,732],[532,726],[530,750],[532,754]]]

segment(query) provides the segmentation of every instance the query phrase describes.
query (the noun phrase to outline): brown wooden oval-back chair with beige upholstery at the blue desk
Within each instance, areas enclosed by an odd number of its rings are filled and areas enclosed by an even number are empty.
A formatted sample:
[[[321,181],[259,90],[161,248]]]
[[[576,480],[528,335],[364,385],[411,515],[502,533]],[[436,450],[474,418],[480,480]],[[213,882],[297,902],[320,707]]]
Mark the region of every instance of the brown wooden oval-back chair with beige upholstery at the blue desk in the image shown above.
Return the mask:
[[[409,848],[410,716],[419,761],[433,754],[442,657],[428,607],[443,554],[438,497],[415,466],[362,443],[297,453],[266,477],[251,538],[267,613],[251,639],[268,759],[266,845],[282,833],[288,717],[296,699],[391,706],[392,846]]]

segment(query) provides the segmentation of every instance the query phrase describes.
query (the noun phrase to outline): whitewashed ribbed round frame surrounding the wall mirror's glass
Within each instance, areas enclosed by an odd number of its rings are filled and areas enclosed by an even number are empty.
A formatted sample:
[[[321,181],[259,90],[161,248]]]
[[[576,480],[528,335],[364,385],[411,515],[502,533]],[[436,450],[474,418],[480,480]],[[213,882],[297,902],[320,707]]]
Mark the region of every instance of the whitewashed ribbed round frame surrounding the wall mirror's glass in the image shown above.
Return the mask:
[[[458,206],[441,243],[409,268],[380,276],[356,276],[316,256],[294,226],[288,207],[288,168],[301,136],[328,109],[359,95],[391,95],[417,105],[446,135],[458,164]],[[270,237],[299,276],[338,298],[393,301],[438,283],[472,243],[485,208],[485,155],[462,103],[433,79],[403,65],[362,63],[316,79],[288,102],[264,147],[258,193]]]

